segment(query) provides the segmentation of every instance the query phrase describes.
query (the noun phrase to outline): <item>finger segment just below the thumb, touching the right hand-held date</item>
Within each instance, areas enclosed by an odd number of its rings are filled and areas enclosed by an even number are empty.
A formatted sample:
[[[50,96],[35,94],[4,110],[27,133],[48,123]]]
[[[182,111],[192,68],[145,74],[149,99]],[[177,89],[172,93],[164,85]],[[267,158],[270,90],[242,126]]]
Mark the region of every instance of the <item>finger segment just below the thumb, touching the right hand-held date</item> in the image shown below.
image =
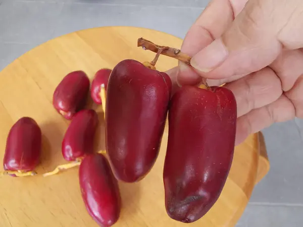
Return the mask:
[[[238,117],[274,102],[282,94],[281,81],[269,67],[224,86],[235,95]]]

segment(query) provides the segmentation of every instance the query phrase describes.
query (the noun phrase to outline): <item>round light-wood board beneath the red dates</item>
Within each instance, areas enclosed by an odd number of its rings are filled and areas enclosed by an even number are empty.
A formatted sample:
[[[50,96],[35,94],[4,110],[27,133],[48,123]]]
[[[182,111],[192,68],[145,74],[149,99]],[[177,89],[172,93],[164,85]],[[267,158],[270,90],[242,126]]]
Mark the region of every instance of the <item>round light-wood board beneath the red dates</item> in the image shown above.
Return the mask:
[[[7,66],[0,73],[0,158],[3,158],[12,125],[19,118],[29,116],[37,121],[43,133],[43,154],[37,172],[52,171],[58,164],[66,163],[61,155],[61,142],[69,121],[52,106],[54,89],[74,70],[83,70],[92,79],[98,69],[113,68],[124,59],[152,60],[153,52],[137,47],[139,37],[176,48],[182,43],[172,35],[143,28],[93,28],[43,43]],[[165,71],[176,65],[176,60],[160,56],[157,69]],[[96,150],[105,148],[103,113],[99,109]],[[115,226],[185,226],[170,219],[165,210],[162,171],[167,136],[166,128],[159,158],[146,178],[135,184],[120,183],[123,208]],[[269,162],[263,158],[258,171],[259,159],[259,135],[254,134],[235,148],[230,175],[217,203],[189,226],[234,226],[256,179],[262,179],[267,173]],[[97,226],[86,212],[80,195],[78,168],[47,178],[41,175],[2,177],[0,226]]]

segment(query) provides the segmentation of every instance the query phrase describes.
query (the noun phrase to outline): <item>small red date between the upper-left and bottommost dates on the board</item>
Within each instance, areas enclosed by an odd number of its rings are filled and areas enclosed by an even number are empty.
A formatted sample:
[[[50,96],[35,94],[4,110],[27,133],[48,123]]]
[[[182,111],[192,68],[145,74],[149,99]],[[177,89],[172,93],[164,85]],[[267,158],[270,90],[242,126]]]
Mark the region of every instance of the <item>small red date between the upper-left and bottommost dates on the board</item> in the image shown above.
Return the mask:
[[[98,115],[93,109],[82,109],[75,114],[62,142],[62,155],[65,160],[74,161],[93,152],[98,123]]]

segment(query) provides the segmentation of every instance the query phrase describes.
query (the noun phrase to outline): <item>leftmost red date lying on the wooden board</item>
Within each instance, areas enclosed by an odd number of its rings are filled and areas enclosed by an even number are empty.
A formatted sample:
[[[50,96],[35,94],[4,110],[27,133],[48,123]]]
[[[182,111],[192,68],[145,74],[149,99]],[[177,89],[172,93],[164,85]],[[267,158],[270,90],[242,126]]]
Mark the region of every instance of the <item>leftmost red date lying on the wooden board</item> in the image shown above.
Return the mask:
[[[38,124],[29,117],[20,118],[10,129],[4,169],[7,171],[33,171],[40,162],[42,133]]]

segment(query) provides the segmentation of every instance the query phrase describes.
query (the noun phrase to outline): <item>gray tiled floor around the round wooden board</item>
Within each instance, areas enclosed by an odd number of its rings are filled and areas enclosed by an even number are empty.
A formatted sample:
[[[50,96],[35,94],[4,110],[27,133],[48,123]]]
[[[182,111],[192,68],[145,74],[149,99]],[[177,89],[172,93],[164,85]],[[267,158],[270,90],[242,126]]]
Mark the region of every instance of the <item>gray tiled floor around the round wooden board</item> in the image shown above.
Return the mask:
[[[0,70],[56,36],[109,25],[161,30],[183,38],[208,0],[0,0]],[[303,121],[263,131],[271,169],[237,227],[295,227],[303,222]]]

